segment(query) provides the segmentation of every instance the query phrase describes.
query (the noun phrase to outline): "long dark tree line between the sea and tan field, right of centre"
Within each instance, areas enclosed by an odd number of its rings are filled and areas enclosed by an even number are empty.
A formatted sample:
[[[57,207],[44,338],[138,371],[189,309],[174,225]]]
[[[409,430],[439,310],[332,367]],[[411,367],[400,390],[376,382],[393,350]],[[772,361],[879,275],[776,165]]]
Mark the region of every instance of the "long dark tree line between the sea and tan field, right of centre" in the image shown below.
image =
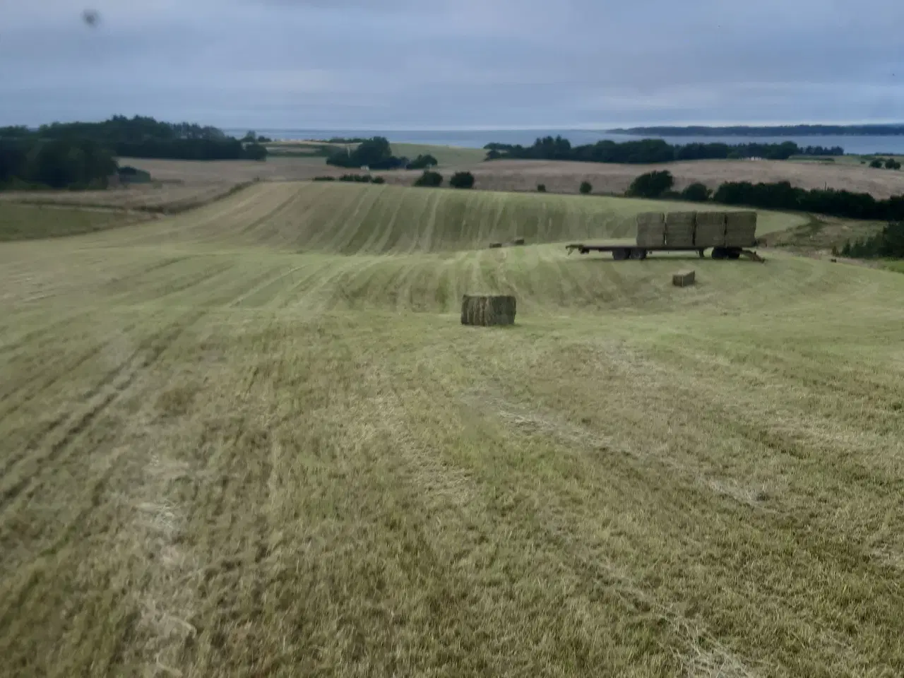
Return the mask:
[[[694,143],[673,146],[663,139],[638,141],[598,141],[596,144],[571,146],[563,137],[538,138],[533,146],[491,143],[484,146],[487,160],[513,158],[522,160],[575,160],[588,163],[652,164],[675,160],[728,160],[761,157],[767,160],[787,160],[792,155],[843,155],[840,147],[801,148],[793,141],[781,144],[711,144]]]

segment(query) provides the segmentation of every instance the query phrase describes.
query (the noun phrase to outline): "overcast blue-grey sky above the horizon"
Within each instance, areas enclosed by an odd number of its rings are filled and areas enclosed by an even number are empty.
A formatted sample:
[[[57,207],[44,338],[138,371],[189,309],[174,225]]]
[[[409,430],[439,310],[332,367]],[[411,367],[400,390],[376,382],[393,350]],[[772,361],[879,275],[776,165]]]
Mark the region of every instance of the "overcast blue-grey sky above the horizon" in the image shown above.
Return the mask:
[[[91,0],[87,0],[90,2]],[[0,125],[904,120],[900,0],[0,0]]]

